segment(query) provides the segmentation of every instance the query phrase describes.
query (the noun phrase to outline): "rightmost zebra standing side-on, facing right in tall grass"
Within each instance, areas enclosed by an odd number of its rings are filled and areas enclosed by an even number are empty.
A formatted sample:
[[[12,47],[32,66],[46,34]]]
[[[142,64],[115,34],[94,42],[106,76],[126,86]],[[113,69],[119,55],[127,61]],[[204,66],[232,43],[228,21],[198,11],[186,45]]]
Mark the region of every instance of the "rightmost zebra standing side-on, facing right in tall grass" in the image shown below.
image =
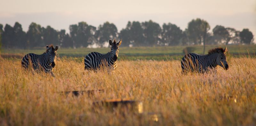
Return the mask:
[[[207,55],[198,55],[196,53],[189,53],[185,55],[181,60],[182,72],[200,72],[204,73],[213,68],[219,69],[219,66],[224,70],[228,70],[227,56],[225,55],[227,47],[225,49],[219,47],[210,49]],[[218,66],[219,65],[219,66]]]

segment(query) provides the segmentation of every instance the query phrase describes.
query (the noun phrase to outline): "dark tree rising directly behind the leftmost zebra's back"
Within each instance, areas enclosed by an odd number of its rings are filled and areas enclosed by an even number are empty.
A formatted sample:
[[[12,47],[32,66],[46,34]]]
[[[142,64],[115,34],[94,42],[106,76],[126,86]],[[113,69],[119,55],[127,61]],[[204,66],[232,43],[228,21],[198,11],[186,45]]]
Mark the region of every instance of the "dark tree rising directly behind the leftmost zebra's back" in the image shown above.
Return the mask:
[[[29,25],[27,40],[30,48],[45,46],[45,43],[42,39],[42,28],[40,25],[37,25],[34,22]]]

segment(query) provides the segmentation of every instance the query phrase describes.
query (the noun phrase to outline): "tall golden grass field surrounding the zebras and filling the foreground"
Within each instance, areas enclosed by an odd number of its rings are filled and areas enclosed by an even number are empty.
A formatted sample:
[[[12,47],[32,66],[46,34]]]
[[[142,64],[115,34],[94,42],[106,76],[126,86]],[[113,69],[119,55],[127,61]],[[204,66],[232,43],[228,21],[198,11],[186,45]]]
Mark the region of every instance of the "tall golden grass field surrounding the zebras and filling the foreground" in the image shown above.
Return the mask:
[[[228,57],[227,71],[202,75],[182,75],[180,60],[123,60],[108,74],[58,58],[55,77],[20,62],[0,58],[0,125],[256,125],[255,56]],[[91,97],[58,93],[99,89]],[[143,113],[93,104],[111,99],[141,101]]]

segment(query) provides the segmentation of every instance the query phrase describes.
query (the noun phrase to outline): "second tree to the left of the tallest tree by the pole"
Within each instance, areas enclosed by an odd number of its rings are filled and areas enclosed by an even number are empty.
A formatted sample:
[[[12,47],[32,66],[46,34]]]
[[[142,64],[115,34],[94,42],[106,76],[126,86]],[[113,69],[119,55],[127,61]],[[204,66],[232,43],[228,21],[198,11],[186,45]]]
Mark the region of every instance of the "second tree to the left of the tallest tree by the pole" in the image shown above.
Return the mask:
[[[142,22],[143,36],[145,37],[144,46],[156,46],[160,42],[161,27],[159,24],[149,20]]]

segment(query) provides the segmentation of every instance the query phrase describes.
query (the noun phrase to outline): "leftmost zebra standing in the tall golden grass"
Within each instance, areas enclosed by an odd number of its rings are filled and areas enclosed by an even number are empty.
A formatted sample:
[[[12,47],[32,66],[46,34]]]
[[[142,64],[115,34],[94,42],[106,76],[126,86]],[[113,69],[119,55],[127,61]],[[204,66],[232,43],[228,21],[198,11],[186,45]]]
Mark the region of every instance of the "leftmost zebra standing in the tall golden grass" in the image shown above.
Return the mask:
[[[33,67],[34,70],[42,70],[44,72],[51,72],[52,68],[55,66],[56,61],[56,51],[58,46],[53,48],[53,45],[46,46],[46,52],[42,55],[37,55],[34,53],[29,53],[25,55],[21,60],[21,65],[24,68]]]

